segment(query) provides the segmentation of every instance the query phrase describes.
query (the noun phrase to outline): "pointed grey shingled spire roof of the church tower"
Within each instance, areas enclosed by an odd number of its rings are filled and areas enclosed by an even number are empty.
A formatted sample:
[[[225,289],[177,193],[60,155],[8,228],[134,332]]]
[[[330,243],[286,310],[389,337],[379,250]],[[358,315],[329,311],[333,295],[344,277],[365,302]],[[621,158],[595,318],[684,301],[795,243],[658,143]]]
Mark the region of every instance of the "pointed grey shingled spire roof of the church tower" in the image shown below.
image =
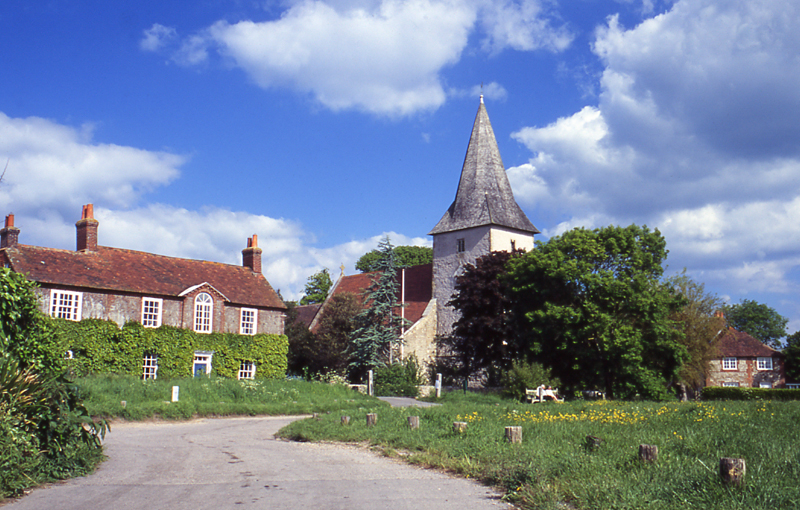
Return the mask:
[[[494,130],[489,122],[489,114],[481,96],[467,155],[461,168],[456,198],[428,235],[484,225],[539,233],[514,200]]]

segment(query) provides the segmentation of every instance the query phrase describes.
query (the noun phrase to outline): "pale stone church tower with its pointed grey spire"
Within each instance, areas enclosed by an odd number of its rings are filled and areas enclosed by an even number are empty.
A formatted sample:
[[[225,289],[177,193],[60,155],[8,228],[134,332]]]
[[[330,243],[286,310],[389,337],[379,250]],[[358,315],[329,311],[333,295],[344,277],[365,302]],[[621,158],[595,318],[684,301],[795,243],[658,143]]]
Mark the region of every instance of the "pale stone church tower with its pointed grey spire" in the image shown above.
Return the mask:
[[[458,320],[458,313],[447,303],[462,268],[492,251],[530,251],[533,236],[538,233],[514,200],[481,95],[456,198],[428,234],[433,236],[438,335],[452,333]]]

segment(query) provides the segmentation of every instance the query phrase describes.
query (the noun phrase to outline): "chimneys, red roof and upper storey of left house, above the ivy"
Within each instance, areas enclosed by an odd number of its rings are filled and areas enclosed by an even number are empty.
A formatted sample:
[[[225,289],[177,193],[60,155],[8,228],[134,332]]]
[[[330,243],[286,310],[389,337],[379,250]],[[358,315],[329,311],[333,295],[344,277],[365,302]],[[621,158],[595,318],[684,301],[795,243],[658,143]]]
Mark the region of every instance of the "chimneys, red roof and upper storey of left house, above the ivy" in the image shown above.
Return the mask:
[[[261,273],[255,235],[242,250],[242,266],[234,266],[99,246],[93,216],[92,204],[84,206],[75,251],[19,244],[14,215],[6,216],[0,260],[38,284],[45,314],[199,333],[283,334],[286,307]]]

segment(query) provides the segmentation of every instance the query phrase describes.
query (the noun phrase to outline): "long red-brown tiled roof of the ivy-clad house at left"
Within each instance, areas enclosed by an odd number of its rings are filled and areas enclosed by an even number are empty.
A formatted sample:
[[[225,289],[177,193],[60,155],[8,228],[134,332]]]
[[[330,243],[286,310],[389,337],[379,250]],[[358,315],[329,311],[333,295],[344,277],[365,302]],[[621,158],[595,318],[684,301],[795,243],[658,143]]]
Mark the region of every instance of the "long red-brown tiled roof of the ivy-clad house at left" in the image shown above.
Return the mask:
[[[79,252],[16,244],[0,253],[12,270],[40,284],[179,297],[187,289],[207,283],[231,303],[286,308],[264,275],[244,266],[106,246]]]

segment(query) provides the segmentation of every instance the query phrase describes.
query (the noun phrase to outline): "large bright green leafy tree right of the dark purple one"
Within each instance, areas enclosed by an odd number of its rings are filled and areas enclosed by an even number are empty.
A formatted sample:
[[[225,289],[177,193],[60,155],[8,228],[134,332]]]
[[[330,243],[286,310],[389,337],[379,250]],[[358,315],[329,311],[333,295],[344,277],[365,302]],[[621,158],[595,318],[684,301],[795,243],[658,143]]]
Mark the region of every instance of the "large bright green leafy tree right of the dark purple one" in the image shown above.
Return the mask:
[[[661,283],[666,241],[647,227],[577,228],[509,261],[519,333],[534,361],[572,388],[666,396],[685,357]]]

